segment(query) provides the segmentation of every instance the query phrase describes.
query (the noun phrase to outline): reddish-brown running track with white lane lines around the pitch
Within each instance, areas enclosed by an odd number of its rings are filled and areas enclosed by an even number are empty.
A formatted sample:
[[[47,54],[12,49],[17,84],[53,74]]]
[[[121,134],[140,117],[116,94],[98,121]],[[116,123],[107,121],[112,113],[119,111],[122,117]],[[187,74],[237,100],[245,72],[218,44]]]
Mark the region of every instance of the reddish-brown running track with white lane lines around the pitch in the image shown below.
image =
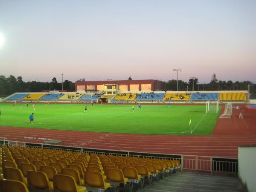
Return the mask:
[[[231,119],[218,119],[210,136],[112,134],[18,127],[0,127],[7,140],[38,143],[24,137],[64,140],[65,145],[84,148],[184,154],[211,157],[238,157],[237,147],[256,143],[256,111],[240,106]],[[244,115],[239,119],[239,113]]]

